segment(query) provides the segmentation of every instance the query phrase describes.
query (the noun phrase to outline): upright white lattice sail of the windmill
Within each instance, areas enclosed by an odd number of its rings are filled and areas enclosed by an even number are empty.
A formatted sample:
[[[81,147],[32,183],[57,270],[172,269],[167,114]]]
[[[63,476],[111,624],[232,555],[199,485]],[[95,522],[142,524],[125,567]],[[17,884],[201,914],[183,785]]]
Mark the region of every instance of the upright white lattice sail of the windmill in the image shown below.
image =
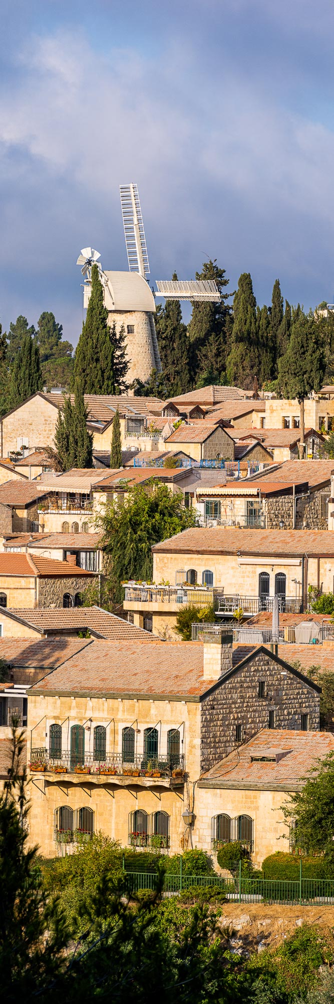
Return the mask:
[[[129,271],[146,279],[150,266],[137,185],[120,185],[120,193]]]

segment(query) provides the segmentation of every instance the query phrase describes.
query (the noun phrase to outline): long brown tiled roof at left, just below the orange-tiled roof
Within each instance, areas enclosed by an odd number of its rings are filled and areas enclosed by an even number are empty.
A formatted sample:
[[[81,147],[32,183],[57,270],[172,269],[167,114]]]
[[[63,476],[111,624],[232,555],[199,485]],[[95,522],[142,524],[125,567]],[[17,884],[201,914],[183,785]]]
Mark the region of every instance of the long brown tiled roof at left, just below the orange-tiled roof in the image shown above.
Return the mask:
[[[1,614],[9,619],[18,620],[27,628],[34,628],[40,634],[50,634],[52,632],[86,631],[91,632],[104,639],[115,641],[124,640],[129,642],[157,644],[158,640],[143,628],[136,628],[123,617],[109,613],[100,606],[74,606],[71,609],[49,609],[39,607],[37,609],[26,609],[6,607],[1,609]],[[161,643],[163,644],[163,643]]]

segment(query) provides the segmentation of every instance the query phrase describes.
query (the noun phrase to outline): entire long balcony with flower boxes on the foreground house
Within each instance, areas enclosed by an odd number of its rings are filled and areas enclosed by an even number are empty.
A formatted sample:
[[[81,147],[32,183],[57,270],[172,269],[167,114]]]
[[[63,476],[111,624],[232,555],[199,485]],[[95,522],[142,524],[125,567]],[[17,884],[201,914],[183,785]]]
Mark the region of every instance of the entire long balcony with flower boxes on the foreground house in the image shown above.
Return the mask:
[[[134,783],[149,787],[152,783],[163,783],[167,787],[177,787],[184,783],[185,777],[184,755],[170,753],[156,757],[134,756],[131,760],[124,760],[121,753],[113,753],[96,759],[93,753],[85,753],[83,758],[69,750],[51,755],[44,747],[36,747],[31,750],[29,767],[31,773],[47,774],[49,782],[70,774],[71,782],[78,783],[89,777],[95,784],[110,781],[121,786]]]

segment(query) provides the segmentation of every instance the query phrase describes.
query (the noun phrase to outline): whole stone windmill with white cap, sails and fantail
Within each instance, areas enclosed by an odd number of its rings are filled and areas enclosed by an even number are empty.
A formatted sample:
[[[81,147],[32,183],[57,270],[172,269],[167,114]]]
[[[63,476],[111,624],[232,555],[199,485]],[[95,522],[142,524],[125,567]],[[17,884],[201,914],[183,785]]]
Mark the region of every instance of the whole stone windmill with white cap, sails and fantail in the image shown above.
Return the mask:
[[[104,287],[104,305],[108,310],[110,325],[116,329],[123,325],[127,336],[130,359],[127,380],[143,383],[149,380],[152,369],[161,372],[159,348],[154,325],[155,297],[166,300],[204,300],[220,302],[216,283],[212,280],[159,280],[156,291],[150,289],[150,266],[146,247],[143,217],[137,185],[120,186],[121,208],[128,272],[102,270],[100,254],[94,248],[83,248],[77,265],[84,276],[84,307],[88,306],[91,292],[92,266],[97,264]]]

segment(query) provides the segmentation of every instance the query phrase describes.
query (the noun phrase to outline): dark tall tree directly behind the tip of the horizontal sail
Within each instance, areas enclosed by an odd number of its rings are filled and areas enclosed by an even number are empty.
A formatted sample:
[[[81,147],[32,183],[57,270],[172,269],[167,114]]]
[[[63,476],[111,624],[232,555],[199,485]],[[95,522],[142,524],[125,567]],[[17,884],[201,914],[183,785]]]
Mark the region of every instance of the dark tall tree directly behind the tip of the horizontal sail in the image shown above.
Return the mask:
[[[189,368],[192,385],[196,385],[201,374],[210,370],[216,379],[225,372],[227,327],[230,310],[226,300],[230,294],[224,294],[229,279],[225,278],[225,269],[219,268],[216,259],[206,261],[201,272],[196,272],[196,279],[213,279],[220,293],[220,302],[192,303],[192,315],[188,324],[189,338]]]

